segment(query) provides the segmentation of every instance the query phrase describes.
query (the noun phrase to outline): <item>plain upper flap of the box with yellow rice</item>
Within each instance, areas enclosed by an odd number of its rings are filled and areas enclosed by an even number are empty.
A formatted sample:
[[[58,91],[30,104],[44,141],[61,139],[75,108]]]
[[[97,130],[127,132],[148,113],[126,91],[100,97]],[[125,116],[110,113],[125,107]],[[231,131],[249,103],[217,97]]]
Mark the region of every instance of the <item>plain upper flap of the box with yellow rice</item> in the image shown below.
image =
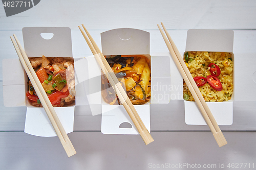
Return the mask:
[[[187,31],[186,52],[233,52],[232,30],[191,29]]]

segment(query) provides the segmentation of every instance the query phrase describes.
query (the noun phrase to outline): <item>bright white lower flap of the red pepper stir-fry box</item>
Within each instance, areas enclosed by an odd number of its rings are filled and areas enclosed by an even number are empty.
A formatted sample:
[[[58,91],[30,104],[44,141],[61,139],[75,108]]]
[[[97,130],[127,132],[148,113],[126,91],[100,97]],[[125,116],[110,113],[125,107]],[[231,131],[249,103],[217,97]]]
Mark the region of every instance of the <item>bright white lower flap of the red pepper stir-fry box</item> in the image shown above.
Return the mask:
[[[73,132],[75,107],[58,107],[54,110],[66,133]],[[44,108],[27,108],[24,132],[42,137],[57,136]]]

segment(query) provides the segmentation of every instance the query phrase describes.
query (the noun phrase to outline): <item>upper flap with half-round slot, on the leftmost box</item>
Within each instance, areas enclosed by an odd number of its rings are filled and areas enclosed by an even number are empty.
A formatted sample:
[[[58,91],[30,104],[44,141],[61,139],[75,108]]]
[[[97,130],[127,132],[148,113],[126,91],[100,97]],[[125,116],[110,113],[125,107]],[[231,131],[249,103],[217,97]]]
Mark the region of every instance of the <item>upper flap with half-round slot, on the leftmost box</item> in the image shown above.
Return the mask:
[[[28,57],[72,57],[71,30],[68,27],[25,27],[22,29]],[[53,37],[44,34],[53,34]],[[63,36],[65,35],[65,36]],[[43,37],[47,38],[43,38]],[[50,39],[49,39],[50,38]]]

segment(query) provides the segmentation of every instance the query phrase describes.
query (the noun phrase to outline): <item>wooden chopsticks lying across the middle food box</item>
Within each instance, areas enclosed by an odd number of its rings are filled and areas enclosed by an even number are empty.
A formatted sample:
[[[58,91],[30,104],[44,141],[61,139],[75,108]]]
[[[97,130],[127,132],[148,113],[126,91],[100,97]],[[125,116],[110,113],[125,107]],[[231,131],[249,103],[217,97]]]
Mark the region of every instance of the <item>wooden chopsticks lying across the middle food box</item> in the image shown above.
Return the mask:
[[[106,76],[106,78],[108,78],[109,82],[111,83],[113,89],[115,90],[115,92],[118,96],[118,99],[120,100],[120,102],[124,106],[126,112],[129,114],[130,118],[132,119],[132,121],[133,121],[136,129],[138,130],[140,136],[142,137],[142,139],[144,140],[146,145],[153,142],[154,139],[152,138],[151,134],[148,132],[145,125],[143,124],[140,116],[138,115],[138,113],[137,113],[136,109],[134,108],[132,102],[128,98],[128,96],[126,94],[126,91],[124,91],[122,85],[120,84],[117,77],[115,76],[115,74],[114,74],[112,68],[110,67],[108,61],[106,61],[106,59],[103,56],[103,54],[101,53],[98,45],[93,40],[92,36],[87,31],[86,27],[84,27],[83,24],[82,24],[82,27],[83,27],[84,31],[86,32],[86,34],[88,35],[89,39],[88,39],[87,35],[83,32],[81,27],[78,26],[78,28],[80,29],[84,39],[86,39],[86,42],[89,45],[96,61],[100,65],[100,68],[103,71],[103,74]]]

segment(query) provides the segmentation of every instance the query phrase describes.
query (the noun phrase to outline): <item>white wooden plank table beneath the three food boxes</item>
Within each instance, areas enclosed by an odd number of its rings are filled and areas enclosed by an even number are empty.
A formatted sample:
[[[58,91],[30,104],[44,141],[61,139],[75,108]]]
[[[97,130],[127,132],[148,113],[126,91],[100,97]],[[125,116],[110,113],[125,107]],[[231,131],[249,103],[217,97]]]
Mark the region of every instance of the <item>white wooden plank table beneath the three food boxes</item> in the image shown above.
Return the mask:
[[[73,56],[91,52],[78,26],[87,27],[100,45],[100,33],[116,28],[150,32],[151,52],[168,53],[158,31],[163,22],[179,51],[185,51],[188,29],[231,29],[233,53],[256,53],[255,1],[40,1],[35,7],[6,17],[0,7],[0,72],[2,60],[17,58],[9,36],[22,41],[24,27],[70,27]],[[250,62],[250,61],[248,61]],[[10,68],[11,69],[11,68]],[[233,124],[220,126],[228,144],[219,148],[207,126],[185,124],[184,102],[151,107],[155,141],[145,146],[139,135],[103,135],[101,115],[87,106],[75,109],[74,132],[69,137],[77,154],[68,158],[57,137],[24,133],[26,107],[5,107],[0,75],[0,169],[184,169],[231,163],[256,168],[256,102],[234,101]],[[249,95],[249,93],[248,93]],[[230,163],[230,164],[229,164]],[[230,165],[230,168],[228,167]],[[175,168],[176,166],[176,168]],[[197,166],[199,167],[199,166]]]

